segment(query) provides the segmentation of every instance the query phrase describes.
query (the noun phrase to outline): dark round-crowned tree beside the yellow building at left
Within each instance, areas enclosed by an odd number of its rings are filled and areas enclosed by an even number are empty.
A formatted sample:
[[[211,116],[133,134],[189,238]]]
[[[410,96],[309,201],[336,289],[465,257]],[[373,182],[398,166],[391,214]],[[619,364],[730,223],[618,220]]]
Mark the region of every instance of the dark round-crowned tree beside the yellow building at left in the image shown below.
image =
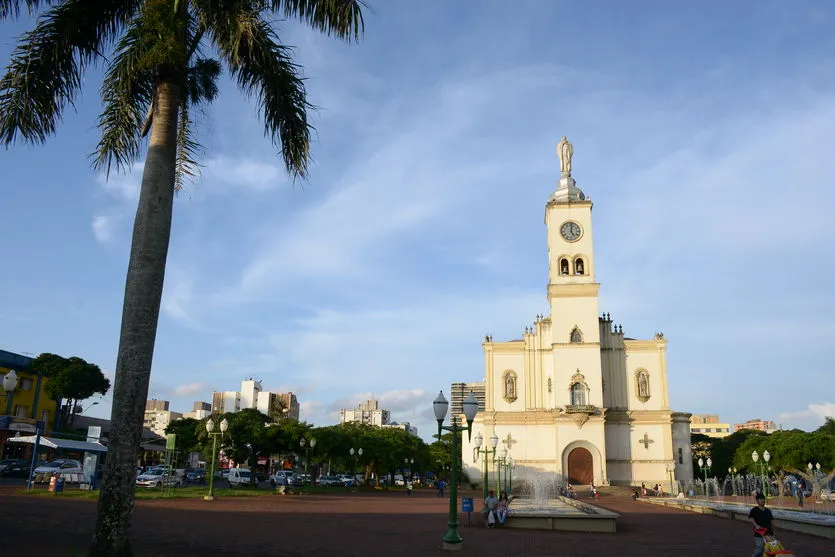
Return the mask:
[[[77,356],[63,358],[45,352],[32,360],[31,367],[38,375],[49,379],[46,393],[58,401],[58,407],[64,414],[64,423],[72,423],[80,401],[96,393],[105,395],[110,390],[110,380],[104,376],[99,366]],[[63,400],[67,401],[66,405],[62,405]]]

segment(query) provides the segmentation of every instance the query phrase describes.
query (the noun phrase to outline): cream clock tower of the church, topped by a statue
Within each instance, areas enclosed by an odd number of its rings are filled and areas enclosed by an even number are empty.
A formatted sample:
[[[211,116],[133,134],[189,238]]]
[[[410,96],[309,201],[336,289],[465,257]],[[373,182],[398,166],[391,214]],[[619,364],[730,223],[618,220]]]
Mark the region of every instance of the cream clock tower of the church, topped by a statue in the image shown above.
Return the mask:
[[[561,176],[545,208],[548,304],[554,363],[553,404],[603,406],[598,291],[594,278],[592,203],[571,177],[574,148],[557,145]]]

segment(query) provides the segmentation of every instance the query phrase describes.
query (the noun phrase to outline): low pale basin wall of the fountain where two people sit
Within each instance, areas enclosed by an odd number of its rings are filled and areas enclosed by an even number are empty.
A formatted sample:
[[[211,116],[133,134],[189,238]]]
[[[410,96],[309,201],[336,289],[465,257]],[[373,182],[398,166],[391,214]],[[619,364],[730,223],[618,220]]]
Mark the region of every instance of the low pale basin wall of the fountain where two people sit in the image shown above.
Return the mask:
[[[610,510],[567,497],[546,501],[515,498],[510,504],[505,528],[615,533],[618,516]]]

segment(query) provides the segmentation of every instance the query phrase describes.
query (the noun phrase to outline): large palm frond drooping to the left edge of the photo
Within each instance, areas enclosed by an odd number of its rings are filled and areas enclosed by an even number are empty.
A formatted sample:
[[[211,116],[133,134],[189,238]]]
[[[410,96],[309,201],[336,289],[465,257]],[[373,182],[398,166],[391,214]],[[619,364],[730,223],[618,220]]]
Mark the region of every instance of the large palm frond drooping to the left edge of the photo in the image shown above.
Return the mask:
[[[0,79],[0,143],[42,143],[72,105],[89,63],[103,57],[143,0],[65,0],[23,35]]]

